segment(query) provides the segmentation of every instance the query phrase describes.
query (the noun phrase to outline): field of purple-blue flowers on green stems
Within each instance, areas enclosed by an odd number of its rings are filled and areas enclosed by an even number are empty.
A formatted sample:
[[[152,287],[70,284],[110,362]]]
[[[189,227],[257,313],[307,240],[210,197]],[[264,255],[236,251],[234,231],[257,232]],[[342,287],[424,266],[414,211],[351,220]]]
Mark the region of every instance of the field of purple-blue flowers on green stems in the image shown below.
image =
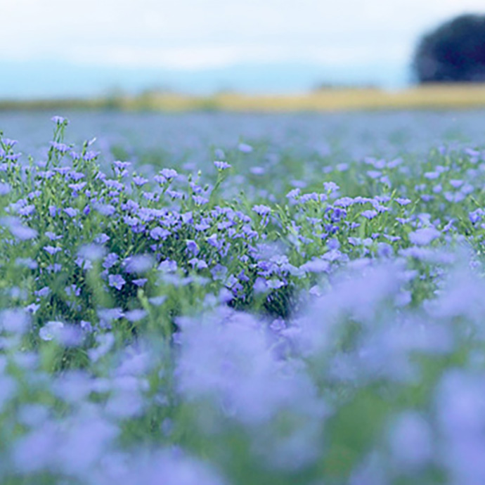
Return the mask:
[[[485,112],[50,118],[0,113],[2,485],[485,483]]]

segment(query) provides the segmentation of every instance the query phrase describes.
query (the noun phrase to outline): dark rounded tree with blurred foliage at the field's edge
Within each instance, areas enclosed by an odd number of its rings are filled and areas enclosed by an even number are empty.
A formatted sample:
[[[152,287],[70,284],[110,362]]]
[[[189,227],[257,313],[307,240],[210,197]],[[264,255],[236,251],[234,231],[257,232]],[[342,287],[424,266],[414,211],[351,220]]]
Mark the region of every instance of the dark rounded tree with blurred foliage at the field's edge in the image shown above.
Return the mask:
[[[485,15],[460,15],[425,34],[413,70],[420,83],[485,82]]]

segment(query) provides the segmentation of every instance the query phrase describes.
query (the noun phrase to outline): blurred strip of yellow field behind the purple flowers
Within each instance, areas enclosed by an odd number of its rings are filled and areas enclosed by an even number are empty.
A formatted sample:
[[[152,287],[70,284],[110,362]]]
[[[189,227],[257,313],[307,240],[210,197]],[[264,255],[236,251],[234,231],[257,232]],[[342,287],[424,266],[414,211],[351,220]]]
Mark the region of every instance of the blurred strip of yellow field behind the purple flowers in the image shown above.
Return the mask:
[[[209,97],[196,97],[153,92],[134,97],[118,96],[89,100],[0,101],[0,110],[93,108],[168,112],[186,110],[292,112],[480,107],[485,107],[485,84],[439,84],[401,91],[324,89],[287,96],[247,96],[239,93],[220,93]]]

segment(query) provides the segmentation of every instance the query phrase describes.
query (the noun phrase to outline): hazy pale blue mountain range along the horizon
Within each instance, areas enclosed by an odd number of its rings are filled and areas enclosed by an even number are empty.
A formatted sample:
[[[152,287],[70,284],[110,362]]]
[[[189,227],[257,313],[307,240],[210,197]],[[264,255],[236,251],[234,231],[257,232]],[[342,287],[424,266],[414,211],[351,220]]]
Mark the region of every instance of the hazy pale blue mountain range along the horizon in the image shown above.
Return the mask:
[[[164,70],[79,65],[59,61],[0,60],[0,99],[86,98],[122,91],[164,89],[198,95],[216,91],[297,93],[321,84],[408,84],[406,66],[375,64],[332,67],[311,63],[245,63],[203,70]]]

